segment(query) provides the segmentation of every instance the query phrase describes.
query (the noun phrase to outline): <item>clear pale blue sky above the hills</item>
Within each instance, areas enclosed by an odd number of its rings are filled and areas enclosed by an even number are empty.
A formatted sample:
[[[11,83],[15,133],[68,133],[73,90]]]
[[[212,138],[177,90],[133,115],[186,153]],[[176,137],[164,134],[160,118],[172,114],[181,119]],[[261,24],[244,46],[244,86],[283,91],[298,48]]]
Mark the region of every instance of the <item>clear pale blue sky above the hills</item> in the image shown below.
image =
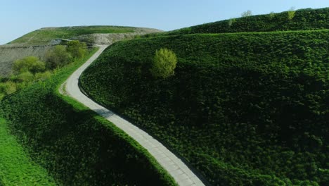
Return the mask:
[[[126,25],[174,30],[181,27],[287,11],[324,8],[329,0],[0,0],[0,44],[41,27]]]

